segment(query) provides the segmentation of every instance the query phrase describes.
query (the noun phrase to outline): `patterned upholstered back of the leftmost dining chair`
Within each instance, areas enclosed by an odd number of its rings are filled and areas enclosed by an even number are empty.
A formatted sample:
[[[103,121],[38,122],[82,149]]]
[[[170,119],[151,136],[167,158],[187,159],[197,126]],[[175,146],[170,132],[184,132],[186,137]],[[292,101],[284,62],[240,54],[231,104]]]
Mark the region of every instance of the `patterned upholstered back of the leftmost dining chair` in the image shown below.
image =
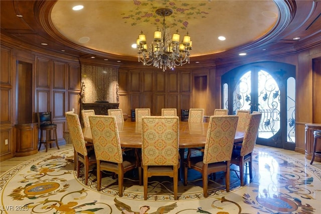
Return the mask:
[[[82,133],[79,116],[73,113],[66,113],[67,126],[69,130],[69,138],[74,146],[74,149],[87,156],[86,141]]]

